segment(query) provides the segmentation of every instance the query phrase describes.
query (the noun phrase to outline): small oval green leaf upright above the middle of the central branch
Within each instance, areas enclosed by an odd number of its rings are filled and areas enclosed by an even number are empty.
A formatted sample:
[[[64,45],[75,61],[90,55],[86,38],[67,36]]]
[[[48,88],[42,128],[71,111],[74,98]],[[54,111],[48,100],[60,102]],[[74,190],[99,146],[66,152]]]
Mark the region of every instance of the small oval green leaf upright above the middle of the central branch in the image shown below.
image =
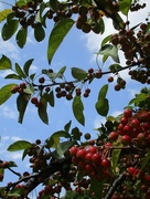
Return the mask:
[[[79,67],[72,67],[72,76],[76,80],[85,80],[87,72]]]

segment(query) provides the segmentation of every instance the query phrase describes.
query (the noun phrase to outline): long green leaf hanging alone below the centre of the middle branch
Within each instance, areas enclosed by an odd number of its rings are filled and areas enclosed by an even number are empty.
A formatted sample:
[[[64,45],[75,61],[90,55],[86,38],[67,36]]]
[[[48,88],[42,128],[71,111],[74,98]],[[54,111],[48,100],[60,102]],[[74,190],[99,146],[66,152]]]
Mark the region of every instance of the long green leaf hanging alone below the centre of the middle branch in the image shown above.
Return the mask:
[[[83,126],[85,125],[85,117],[83,114],[84,111],[84,105],[83,102],[81,100],[81,96],[75,96],[73,100],[73,113],[75,118],[78,121],[78,123],[81,123]]]

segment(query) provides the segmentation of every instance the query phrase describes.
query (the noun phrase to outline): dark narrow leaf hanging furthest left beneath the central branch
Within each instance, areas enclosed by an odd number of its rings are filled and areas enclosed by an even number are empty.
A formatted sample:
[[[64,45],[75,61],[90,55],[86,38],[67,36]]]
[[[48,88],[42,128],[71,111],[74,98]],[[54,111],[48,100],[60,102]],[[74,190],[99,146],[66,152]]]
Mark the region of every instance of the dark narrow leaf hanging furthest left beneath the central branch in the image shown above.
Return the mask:
[[[22,124],[23,122],[23,117],[24,117],[24,113],[28,106],[28,97],[25,97],[24,94],[20,94],[17,98],[17,106],[18,106],[18,112],[19,112],[19,119],[18,122]]]

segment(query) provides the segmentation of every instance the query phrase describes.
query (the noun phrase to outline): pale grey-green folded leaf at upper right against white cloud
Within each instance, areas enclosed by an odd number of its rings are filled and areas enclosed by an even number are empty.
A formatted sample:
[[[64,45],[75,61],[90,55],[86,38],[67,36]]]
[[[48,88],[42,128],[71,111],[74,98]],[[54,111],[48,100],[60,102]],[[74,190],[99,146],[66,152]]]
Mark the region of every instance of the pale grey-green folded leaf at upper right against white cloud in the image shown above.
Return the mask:
[[[111,59],[119,63],[118,49],[111,44],[105,44],[100,48],[98,54],[111,56]]]

